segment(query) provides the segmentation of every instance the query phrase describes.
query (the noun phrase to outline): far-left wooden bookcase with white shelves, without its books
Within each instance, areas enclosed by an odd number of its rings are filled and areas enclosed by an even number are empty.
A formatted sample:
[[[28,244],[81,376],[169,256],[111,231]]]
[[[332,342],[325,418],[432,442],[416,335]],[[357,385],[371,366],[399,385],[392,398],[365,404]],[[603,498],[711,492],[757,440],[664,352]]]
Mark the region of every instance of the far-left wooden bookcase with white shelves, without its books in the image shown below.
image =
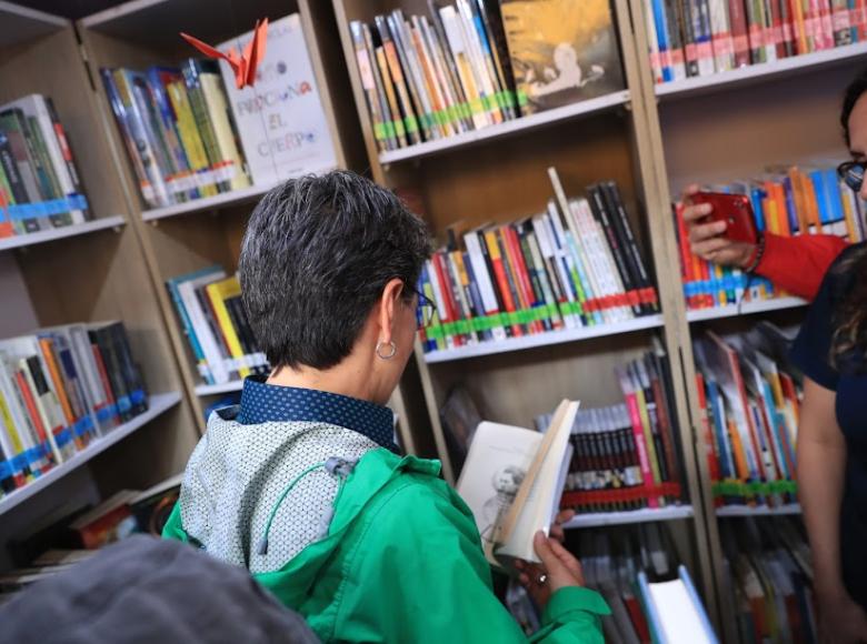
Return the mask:
[[[74,28],[69,20],[0,2],[0,103],[31,93],[50,97],[57,108],[92,220],[0,240],[0,299],[4,311],[14,312],[0,316],[0,336],[122,321],[147,390],[160,393],[150,396],[146,413],[0,500],[1,544],[67,500],[88,494],[98,500],[177,473],[199,436],[158,304],[160,285],[136,232]],[[0,556],[0,567],[6,564]]]

